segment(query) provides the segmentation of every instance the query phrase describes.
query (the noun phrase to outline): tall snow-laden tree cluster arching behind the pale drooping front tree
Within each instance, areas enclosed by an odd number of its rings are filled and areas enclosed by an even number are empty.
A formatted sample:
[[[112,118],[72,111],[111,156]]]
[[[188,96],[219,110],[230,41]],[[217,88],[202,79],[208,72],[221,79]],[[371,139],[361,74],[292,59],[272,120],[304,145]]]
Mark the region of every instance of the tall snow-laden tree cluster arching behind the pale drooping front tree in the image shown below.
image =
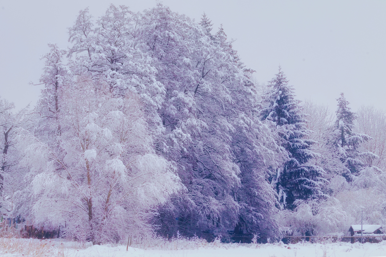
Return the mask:
[[[77,76],[117,99],[138,94],[152,146],[185,185],[158,208],[160,232],[193,236],[237,226],[275,237],[277,198],[268,177],[280,165],[281,148],[259,119],[253,71],[223,28],[212,35],[211,26],[205,15],[197,24],[160,3],[142,13],[110,5],[96,20],[81,10],[69,28],[73,46],[50,43],[42,57],[45,89],[34,136],[65,158],[59,117],[68,112],[62,106],[70,104],[66,94]]]

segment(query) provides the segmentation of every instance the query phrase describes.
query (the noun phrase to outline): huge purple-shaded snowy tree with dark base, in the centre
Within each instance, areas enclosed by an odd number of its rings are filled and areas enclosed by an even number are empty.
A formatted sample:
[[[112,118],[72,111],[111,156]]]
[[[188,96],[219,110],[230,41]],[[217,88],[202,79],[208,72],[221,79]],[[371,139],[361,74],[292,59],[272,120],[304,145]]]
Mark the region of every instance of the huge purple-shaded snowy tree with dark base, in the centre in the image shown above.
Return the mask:
[[[276,224],[266,175],[278,146],[259,120],[258,96],[242,62],[225,37],[221,44],[209,39],[198,24],[161,4],[146,10],[139,24],[142,51],[153,58],[166,90],[159,111],[165,136],[156,146],[178,164],[188,189],[163,207],[162,232],[226,233],[239,222],[245,233],[259,226],[266,231]]]

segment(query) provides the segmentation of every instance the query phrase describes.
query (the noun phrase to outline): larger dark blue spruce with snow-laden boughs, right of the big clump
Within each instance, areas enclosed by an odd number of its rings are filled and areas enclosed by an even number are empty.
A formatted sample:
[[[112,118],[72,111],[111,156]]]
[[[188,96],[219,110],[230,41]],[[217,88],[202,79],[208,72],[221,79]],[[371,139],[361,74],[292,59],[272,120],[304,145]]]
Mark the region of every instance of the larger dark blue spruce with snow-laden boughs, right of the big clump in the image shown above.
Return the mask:
[[[308,163],[318,156],[312,151],[315,141],[306,137],[312,132],[306,129],[305,115],[301,113],[300,101],[295,99],[293,86],[279,67],[279,72],[270,81],[271,89],[263,96],[260,112],[262,120],[272,123],[278,134],[278,144],[286,151],[283,166],[272,175],[272,185],[279,194],[281,206],[293,209],[296,200],[322,195],[321,186],[325,171]]]

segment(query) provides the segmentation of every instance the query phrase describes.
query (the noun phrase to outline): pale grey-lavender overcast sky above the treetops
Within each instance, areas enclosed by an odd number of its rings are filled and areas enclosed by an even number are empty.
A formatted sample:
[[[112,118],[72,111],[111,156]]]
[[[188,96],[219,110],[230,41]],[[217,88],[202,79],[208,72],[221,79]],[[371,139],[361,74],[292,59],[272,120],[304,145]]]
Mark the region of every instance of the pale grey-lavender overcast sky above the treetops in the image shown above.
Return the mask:
[[[94,17],[109,3],[141,11],[154,0],[0,0],[0,95],[17,109],[35,105],[47,42],[69,46],[67,27],[80,9]],[[311,98],[335,110],[340,92],[352,109],[386,110],[386,1],[211,1],[164,0],[172,11],[196,21],[203,12],[223,24],[245,65],[259,82],[269,81],[279,64],[298,99]]]

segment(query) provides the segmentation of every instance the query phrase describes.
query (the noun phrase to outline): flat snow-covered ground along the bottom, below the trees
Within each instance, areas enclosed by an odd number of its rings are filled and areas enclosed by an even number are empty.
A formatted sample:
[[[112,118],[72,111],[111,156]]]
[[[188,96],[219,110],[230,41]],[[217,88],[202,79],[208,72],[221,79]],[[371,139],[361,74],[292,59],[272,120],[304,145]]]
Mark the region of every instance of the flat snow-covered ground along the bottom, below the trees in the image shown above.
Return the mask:
[[[2,239],[0,239],[2,240]],[[18,241],[19,240],[19,241]],[[20,241],[21,240],[21,241]],[[9,241],[10,242],[10,241]],[[8,243],[9,243],[8,242]],[[20,243],[21,242],[21,243]],[[37,250],[21,247],[36,247]],[[220,244],[197,249],[139,249],[112,245],[80,245],[76,242],[58,240],[13,239],[5,246],[1,244],[2,257],[58,256],[58,257],[370,257],[386,256],[386,241],[379,244]],[[19,248],[19,249],[17,249]],[[179,248],[179,247],[178,247]],[[23,251],[24,250],[24,251]]]

